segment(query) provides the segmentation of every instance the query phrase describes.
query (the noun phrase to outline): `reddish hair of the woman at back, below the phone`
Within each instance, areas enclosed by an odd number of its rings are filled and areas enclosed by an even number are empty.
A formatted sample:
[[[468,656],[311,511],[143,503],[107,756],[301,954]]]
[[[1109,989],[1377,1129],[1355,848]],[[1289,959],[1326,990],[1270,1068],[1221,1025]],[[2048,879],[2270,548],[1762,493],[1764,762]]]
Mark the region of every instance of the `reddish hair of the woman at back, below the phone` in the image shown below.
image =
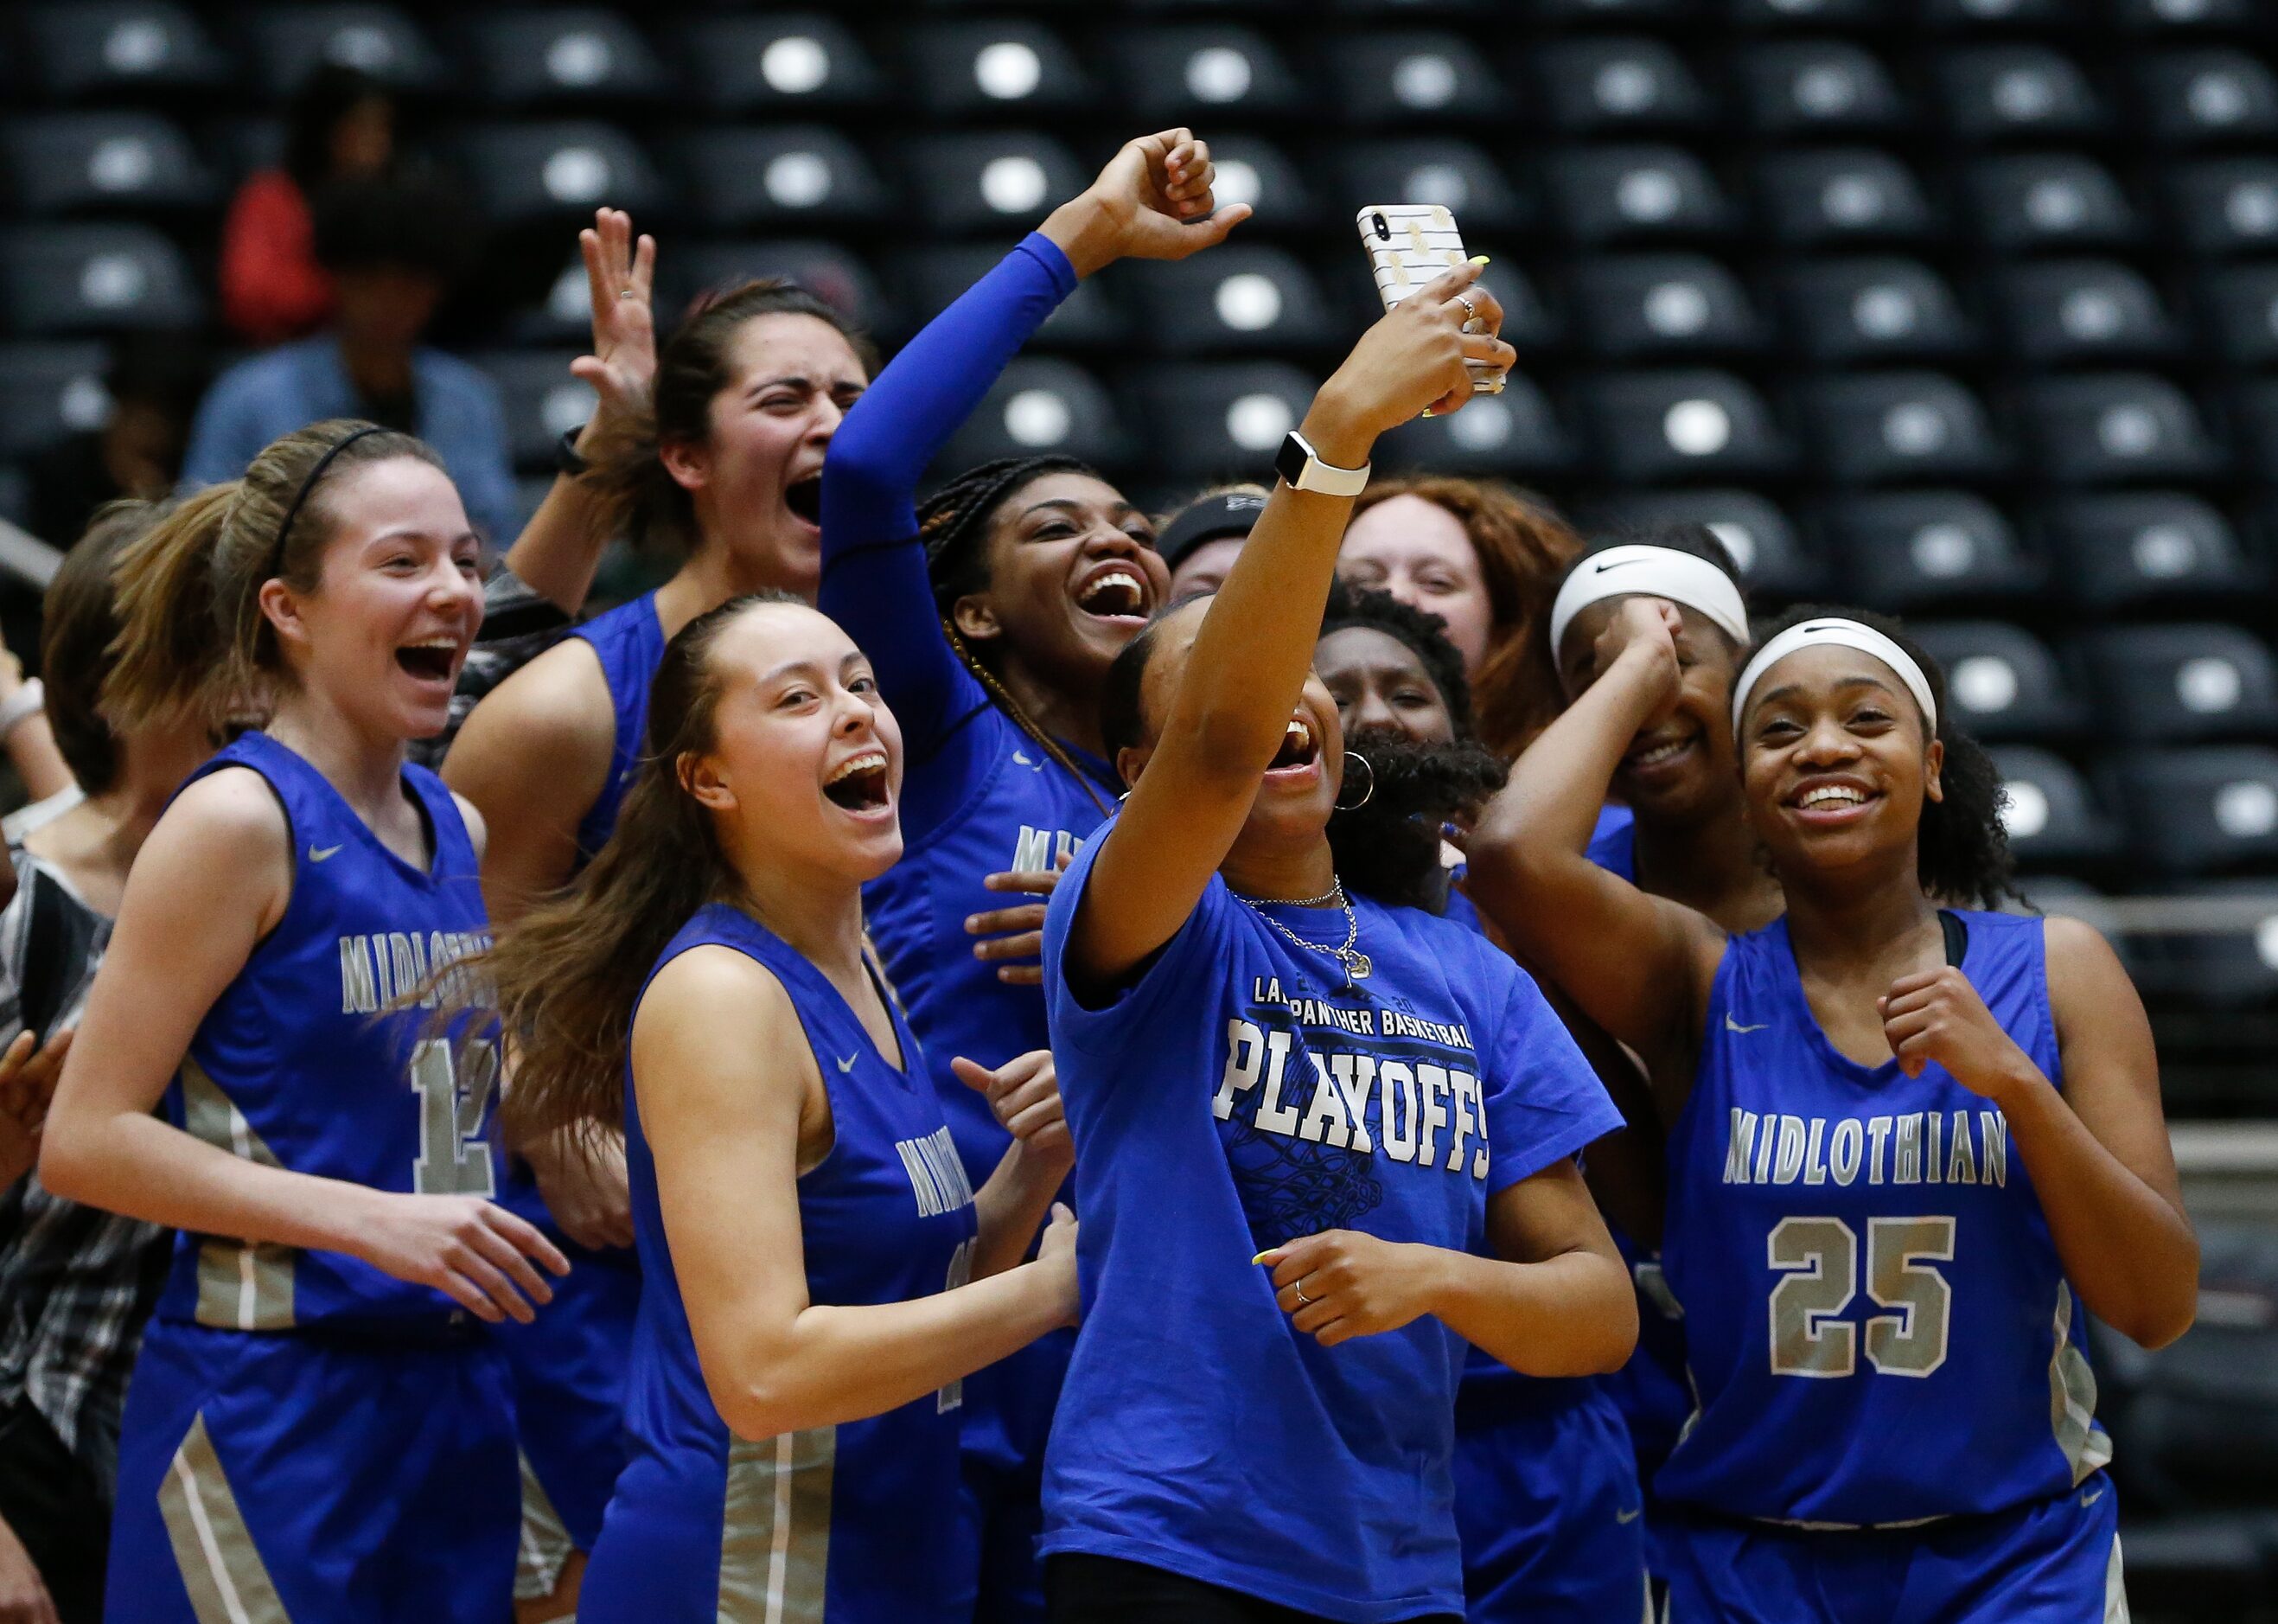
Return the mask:
[[[1581,535],[1542,497],[1501,481],[1444,474],[1374,481],[1353,503],[1353,517],[1394,497],[1447,508],[1472,538],[1492,615],[1488,654],[1472,672],[1478,738],[1515,761],[1563,706],[1558,683],[1544,681],[1533,658],[1533,633],[1551,613],[1558,576],[1581,551]]]

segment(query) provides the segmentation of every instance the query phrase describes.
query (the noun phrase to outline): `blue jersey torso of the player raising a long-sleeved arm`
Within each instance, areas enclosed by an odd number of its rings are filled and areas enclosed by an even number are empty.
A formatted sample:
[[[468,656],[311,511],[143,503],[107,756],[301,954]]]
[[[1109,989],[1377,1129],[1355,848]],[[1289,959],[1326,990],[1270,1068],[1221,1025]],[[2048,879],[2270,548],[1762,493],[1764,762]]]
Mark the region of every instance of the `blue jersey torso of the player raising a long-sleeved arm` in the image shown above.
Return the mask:
[[[1098,768],[1096,779],[1062,768],[993,704],[977,708],[964,727],[986,733],[986,747],[966,754],[982,763],[980,777],[934,784],[927,763],[909,765],[904,795],[913,806],[904,827],[927,834],[886,875],[863,886],[863,916],[934,1068],[966,1178],[977,1187],[995,1171],[1011,1137],[989,1100],[957,1080],[950,1059],[964,1055],[982,1066],[1002,1066],[1046,1045],[1046,1020],[1034,986],[1007,986],[993,963],[973,957],[980,938],[966,934],[966,918],[1032,902],[989,891],[982,879],[1014,868],[1048,870],[1073,856],[1121,790],[1107,788],[1107,768],[1080,752],[1068,752],[1068,758]]]

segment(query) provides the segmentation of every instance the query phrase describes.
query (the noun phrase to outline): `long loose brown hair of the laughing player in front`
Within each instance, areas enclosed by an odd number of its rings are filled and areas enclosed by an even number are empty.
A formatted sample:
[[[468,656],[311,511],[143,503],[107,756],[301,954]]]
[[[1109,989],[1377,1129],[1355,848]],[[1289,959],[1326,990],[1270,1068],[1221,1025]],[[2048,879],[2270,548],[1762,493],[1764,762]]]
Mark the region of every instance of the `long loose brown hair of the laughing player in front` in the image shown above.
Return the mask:
[[[665,645],[640,768],[608,845],[567,891],[508,925],[490,952],[458,961],[444,984],[458,1009],[497,1000],[515,1066],[503,1105],[513,1141],[560,1127],[590,1137],[620,1121],[633,1002],[656,954],[699,907],[736,895],[713,818],[681,786],[679,768],[715,743],[722,683],[713,642],[759,604],[800,599],[729,599]],[[440,1011],[440,1020],[451,1016]]]

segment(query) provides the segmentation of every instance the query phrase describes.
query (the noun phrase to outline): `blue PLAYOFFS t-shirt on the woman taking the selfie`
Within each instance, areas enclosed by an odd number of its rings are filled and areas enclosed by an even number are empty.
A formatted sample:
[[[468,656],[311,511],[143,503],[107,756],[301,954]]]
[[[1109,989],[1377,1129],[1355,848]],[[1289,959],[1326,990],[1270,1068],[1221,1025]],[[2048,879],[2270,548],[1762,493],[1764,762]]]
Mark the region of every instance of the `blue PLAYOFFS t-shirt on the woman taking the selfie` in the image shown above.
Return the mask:
[[[1046,1449],[1043,1551],[1191,1574],[1353,1624],[1462,1613],[1437,1319],[1319,1346],[1251,1260],[1321,1230],[1485,1250],[1488,1198],[1622,1125],[1533,982],[1462,925],[1355,900],[1371,975],[1212,877],[1087,1009],[1062,963],[1114,822],[1046,913],[1075,1134],[1084,1326]],[[1267,907],[1308,941],[1337,909]]]

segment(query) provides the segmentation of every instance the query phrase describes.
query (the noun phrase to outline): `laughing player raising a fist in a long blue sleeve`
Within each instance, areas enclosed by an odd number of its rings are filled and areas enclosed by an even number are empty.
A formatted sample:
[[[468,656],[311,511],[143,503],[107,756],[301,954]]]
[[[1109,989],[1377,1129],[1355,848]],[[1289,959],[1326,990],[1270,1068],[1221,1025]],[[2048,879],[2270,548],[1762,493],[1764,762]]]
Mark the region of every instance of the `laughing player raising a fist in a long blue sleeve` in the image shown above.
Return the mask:
[[[870,932],[973,1182],[1005,1155],[1005,1130],[950,1057],[995,1066],[1046,1043],[1043,907],[1002,893],[1050,888],[1114,806],[1098,692],[1169,574],[1146,517],[1071,458],[991,462],[923,508],[916,487],[1077,278],[1187,257],[1248,216],[1212,214],[1210,189],[1210,148],[1189,132],[1125,143],[895,355],[822,465],[818,601],[877,661],[909,740],[909,854],[868,888]],[[980,1569],[957,1583],[986,1624],[1043,1613],[1036,1496],[1066,1348],[1041,1342],[966,1385]]]

